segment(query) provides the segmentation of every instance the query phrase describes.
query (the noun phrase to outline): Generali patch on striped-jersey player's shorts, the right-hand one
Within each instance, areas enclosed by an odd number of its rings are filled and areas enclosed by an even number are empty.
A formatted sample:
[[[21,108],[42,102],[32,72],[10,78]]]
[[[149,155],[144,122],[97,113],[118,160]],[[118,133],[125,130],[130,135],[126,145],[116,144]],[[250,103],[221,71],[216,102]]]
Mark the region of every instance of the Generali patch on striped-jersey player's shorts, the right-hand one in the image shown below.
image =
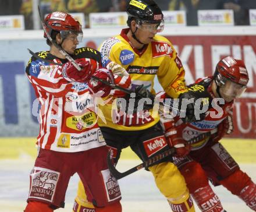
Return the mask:
[[[116,178],[112,176],[108,169],[102,170],[101,174],[103,177],[108,202],[121,198],[121,192]]]

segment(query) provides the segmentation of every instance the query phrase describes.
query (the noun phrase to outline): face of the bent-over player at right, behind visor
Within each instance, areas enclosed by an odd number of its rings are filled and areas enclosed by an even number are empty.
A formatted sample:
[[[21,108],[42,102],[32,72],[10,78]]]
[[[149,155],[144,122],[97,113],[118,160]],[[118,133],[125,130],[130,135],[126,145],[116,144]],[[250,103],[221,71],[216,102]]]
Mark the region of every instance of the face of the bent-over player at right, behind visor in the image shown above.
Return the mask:
[[[230,101],[233,101],[235,98],[239,98],[241,94],[244,93],[246,88],[247,86],[227,80],[225,85],[219,88],[219,92],[221,93],[221,96],[224,98],[224,100],[227,103],[230,103]]]

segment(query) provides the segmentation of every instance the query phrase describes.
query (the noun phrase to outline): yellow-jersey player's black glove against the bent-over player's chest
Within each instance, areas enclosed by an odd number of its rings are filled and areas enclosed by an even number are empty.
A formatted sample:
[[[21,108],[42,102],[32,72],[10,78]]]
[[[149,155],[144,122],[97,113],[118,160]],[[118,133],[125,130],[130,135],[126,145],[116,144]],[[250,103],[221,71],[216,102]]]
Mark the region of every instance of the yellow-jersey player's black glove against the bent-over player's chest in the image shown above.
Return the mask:
[[[198,122],[205,118],[205,113],[202,113],[202,103],[195,105],[197,97],[192,92],[182,93],[179,96],[180,117],[184,123]],[[189,103],[189,104],[186,104]]]

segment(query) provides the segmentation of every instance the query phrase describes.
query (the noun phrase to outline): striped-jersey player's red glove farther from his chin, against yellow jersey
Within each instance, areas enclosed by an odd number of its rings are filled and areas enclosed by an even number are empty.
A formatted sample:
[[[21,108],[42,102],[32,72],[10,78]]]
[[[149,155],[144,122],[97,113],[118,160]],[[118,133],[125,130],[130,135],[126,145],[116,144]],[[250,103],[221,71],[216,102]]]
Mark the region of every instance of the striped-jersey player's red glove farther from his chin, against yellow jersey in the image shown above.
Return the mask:
[[[107,70],[106,68],[101,68],[95,71],[93,76],[96,76],[99,79],[104,79],[105,81],[110,82],[112,84],[115,83],[115,79],[112,72]],[[108,96],[112,89],[111,86],[99,82],[96,79],[90,79],[90,81],[88,82],[88,86],[90,87],[92,93],[98,93],[99,91],[102,91],[101,97]]]

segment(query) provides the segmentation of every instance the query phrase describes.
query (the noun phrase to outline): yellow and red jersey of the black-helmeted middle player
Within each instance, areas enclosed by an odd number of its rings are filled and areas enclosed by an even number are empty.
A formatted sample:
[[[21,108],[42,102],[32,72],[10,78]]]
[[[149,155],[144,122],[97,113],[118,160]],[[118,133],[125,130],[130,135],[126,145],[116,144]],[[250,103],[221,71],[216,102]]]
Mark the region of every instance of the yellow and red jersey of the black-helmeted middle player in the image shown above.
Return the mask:
[[[187,92],[184,80],[184,68],[176,50],[168,39],[155,35],[153,41],[139,52],[127,37],[129,28],[123,29],[121,34],[107,39],[99,47],[99,52],[110,60],[122,65],[131,76],[131,89],[143,85],[144,88],[155,93],[154,78],[163,90],[173,98],[179,97],[180,93]],[[159,121],[157,116],[138,118],[125,115],[116,118],[115,107],[109,103],[101,107],[106,124],[98,120],[99,126],[108,126],[118,130],[143,130],[155,125]]]

